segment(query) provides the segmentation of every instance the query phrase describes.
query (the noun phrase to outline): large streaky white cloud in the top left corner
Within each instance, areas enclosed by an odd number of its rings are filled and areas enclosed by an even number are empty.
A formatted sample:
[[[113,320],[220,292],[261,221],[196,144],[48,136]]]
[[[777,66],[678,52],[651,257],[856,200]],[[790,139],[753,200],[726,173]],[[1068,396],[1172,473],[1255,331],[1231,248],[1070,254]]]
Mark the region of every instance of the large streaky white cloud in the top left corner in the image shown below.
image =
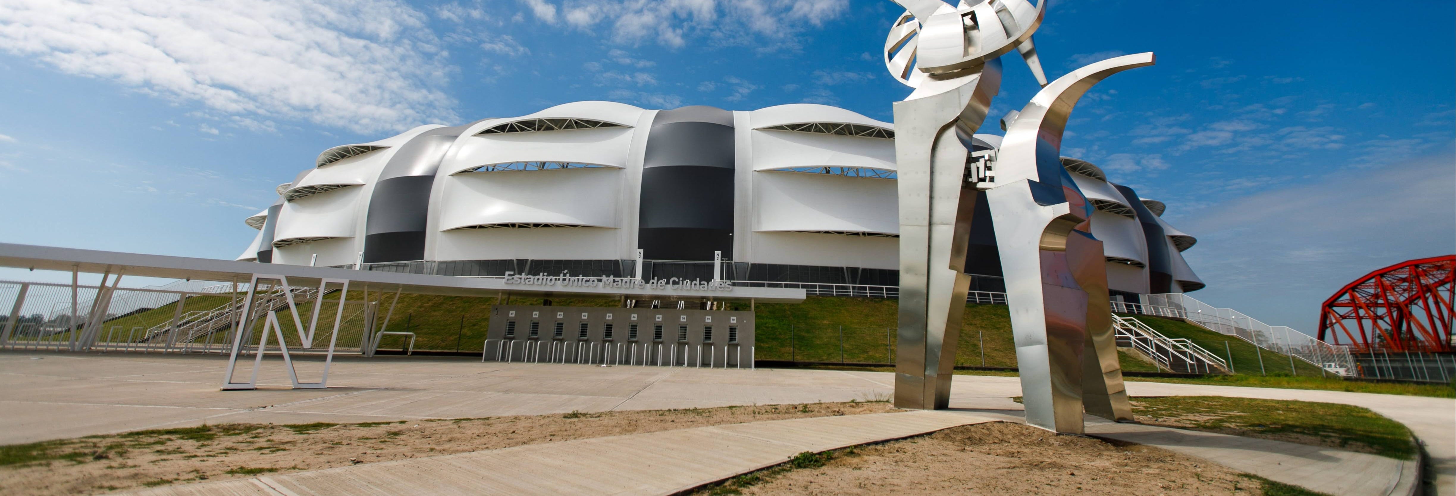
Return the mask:
[[[453,122],[453,73],[399,0],[7,0],[0,49],[214,112],[357,132]]]

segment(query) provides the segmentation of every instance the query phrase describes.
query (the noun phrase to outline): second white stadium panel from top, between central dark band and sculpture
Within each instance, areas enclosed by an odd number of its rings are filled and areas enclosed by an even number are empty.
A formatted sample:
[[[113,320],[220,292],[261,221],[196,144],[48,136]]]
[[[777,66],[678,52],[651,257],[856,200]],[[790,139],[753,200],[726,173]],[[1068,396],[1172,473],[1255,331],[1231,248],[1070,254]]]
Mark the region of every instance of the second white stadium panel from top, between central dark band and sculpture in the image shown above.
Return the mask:
[[[814,166],[898,170],[893,140],[757,129],[750,135],[753,170]]]

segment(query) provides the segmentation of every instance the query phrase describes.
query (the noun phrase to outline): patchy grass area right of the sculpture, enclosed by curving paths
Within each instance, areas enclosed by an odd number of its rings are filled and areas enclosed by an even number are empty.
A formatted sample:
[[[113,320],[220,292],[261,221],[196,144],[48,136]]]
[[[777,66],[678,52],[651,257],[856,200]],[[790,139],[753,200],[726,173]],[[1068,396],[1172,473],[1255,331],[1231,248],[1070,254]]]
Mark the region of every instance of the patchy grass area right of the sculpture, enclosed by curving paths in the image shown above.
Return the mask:
[[[1133,413],[1152,417],[1155,423],[1172,422],[1197,431],[1290,442],[1315,438],[1326,445],[1396,460],[1411,460],[1417,449],[1404,425],[1350,404],[1169,396],[1133,399]]]

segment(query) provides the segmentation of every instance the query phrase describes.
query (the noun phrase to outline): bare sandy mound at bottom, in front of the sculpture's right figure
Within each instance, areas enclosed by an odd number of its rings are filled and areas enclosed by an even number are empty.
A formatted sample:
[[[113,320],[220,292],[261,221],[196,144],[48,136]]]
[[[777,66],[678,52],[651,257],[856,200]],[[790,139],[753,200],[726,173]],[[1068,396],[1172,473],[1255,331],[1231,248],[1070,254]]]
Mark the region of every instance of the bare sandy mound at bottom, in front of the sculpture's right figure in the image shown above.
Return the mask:
[[[1165,449],[997,422],[859,447],[820,468],[699,495],[1262,495],[1258,487]]]

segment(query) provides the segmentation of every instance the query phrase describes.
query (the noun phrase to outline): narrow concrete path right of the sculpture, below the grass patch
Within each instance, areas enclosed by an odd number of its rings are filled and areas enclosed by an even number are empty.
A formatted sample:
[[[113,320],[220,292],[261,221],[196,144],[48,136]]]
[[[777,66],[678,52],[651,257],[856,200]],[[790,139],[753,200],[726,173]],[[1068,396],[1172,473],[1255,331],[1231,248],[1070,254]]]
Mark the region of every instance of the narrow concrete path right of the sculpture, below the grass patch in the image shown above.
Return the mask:
[[[1107,420],[1088,422],[1086,432],[1337,496],[1411,495],[1420,484],[1415,461],[1363,452]]]

